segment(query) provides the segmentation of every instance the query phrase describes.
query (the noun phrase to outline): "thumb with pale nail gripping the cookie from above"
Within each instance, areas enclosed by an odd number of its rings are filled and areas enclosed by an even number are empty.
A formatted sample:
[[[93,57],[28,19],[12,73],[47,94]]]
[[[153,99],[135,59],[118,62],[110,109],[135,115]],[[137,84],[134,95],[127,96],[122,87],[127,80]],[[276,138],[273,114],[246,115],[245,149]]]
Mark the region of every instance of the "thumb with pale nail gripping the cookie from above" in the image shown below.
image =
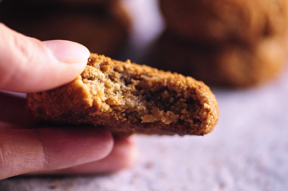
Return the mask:
[[[36,92],[61,86],[84,70],[89,54],[78,43],[41,42],[0,23],[0,89]]]

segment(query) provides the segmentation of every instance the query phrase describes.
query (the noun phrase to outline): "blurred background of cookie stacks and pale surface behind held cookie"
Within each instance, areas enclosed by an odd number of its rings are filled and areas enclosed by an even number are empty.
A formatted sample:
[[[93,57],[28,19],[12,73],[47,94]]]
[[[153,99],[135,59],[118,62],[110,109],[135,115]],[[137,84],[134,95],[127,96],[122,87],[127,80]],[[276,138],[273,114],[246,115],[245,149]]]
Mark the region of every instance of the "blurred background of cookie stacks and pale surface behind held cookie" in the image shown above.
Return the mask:
[[[288,188],[287,0],[0,0],[0,22],[203,80],[220,109],[204,137],[137,136],[130,169],[13,177],[1,191]]]

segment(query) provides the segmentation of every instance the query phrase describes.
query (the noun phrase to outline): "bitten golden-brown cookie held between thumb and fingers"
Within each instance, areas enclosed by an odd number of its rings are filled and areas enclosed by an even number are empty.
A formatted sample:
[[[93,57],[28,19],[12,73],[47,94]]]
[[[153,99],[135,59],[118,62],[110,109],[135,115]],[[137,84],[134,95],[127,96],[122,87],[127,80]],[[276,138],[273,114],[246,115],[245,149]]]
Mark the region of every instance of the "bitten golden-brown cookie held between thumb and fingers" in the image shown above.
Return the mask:
[[[219,115],[203,82],[97,54],[73,82],[28,94],[27,106],[38,120],[89,124],[117,135],[204,135]]]

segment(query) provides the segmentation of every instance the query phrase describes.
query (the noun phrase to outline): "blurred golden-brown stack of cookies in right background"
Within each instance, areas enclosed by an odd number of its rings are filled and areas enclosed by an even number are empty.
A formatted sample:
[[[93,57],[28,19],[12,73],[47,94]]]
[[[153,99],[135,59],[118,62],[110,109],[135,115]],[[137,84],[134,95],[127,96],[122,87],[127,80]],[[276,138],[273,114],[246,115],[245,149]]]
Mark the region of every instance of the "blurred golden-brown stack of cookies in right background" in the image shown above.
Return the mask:
[[[155,67],[207,84],[247,87],[273,78],[287,56],[286,0],[160,0],[166,31]]]

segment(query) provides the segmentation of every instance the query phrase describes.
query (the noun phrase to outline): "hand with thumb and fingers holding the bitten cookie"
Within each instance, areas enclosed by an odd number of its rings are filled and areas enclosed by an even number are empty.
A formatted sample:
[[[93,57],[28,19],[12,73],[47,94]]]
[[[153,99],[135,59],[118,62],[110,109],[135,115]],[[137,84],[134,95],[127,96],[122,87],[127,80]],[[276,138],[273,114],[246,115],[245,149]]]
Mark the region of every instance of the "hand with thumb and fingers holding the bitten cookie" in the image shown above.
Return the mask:
[[[0,89],[43,91],[65,84],[87,63],[86,47],[64,40],[41,42],[0,23]],[[0,93],[0,180],[24,173],[103,173],[128,167],[132,138],[113,139],[95,128],[40,127],[25,99]]]

